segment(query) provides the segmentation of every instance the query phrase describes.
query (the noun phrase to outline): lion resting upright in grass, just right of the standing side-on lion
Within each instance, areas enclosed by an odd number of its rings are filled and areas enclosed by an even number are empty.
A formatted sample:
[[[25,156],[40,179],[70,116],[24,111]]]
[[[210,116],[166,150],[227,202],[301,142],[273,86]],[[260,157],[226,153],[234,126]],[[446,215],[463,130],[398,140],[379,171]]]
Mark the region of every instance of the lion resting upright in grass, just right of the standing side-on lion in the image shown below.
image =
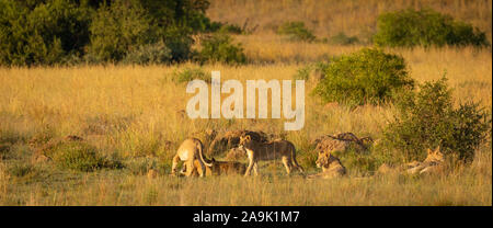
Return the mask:
[[[319,158],[316,161],[318,168],[322,168],[321,173],[308,176],[309,179],[321,178],[339,178],[346,174],[346,168],[341,163],[339,158],[332,156],[331,152],[320,151]]]

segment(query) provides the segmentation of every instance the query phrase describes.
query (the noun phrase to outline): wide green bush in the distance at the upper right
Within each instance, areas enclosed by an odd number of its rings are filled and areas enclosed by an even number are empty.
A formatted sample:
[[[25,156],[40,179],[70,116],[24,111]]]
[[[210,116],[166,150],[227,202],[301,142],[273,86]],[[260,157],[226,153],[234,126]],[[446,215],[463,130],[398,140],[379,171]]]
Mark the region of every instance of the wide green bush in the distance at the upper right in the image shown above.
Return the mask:
[[[483,32],[432,10],[402,10],[379,15],[374,42],[391,47],[490,45]]]

